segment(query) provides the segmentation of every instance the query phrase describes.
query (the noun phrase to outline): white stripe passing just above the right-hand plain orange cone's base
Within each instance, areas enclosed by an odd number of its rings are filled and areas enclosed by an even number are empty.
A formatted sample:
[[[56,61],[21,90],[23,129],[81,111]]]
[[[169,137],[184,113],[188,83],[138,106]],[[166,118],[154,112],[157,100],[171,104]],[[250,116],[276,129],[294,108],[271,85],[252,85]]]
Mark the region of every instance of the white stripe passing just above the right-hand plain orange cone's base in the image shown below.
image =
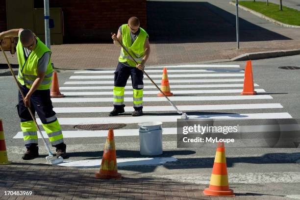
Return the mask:
[[[129,83],[128,83],[129,85]],[[130,84],[131,85],[131,84]],[[243,87],[244,84],[202,84],[202,85],[172,85],[171,88],[224,88],[224,87]],[[259,86],[254,84],[255,87]],[[59,87],[59,90],[112,90],[113,86],[74,86]],[[154,85],[144,85],[144,89],[155,89]],[[125,87],[132,90],[132,87]]]

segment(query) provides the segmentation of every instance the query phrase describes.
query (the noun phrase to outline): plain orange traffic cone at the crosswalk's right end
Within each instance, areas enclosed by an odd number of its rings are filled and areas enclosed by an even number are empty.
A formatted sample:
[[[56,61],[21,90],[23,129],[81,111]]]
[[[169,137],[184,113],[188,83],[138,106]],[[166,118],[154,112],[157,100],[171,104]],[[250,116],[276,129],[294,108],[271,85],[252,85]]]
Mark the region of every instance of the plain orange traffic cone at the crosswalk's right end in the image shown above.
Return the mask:
[[[246,62],[244,88],[243,92],[241,92],[241,95],[256,95],[256,92],[254,91],[251,60]]]

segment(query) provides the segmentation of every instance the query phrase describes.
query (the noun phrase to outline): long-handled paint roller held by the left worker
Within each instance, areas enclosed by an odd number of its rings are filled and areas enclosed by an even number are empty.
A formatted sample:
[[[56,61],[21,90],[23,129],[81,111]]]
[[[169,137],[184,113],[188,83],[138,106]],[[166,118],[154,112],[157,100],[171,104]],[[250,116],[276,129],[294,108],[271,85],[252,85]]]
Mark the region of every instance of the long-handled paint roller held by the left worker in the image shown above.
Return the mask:
[[[14,80],[15,80],[16,83],[17,83],[17,86],[18,86],[18,89],[19,89],[19,91],[20,91],[20,93],[21,93],[21,95],[22,95],[22,98],[24,99],[25,97],[24,97],[23,91],[22,91],[22,89],[21,89],[21,87],[20,87],[20,85],[19,85],[19,82],[18,82],[16,76],[14,75],[14,72],[13,72],[13,70],[12,70],[12,68],[11,68],[11,65],[10,65],[10,63],[9,63],[9,61],[8,61],[8,59],[7,59],[6,53],[5,53],[4,50],[2,49],[2,46],[1,46],[1,45],[0,45],[0,48],[1,48],[1,51],[3,52],[3,54],[4,54],[4,57],[5,57],[5,59],[6,59],[7,65],[8,65],[8,68],[9,68],[9,70],[10,70],[10,72],[11,72],[11,74],[12,74]],[[42,139],[43,139],[44,145],[45,145],[45,147],[46,147],[46,149],[47,149],[47,151],[48,151],[48,153],[49,153],[49,155],[46,157],[47,163],[50,164],[50,165],[56,165],[56,164],[62,163],[62,162],[64,161],[64,159],[63,159],[61,156],[59,156],[58,158],[53,156],[53,153],[52,153],[51,150],[49,149],[49,146],[48,146],[48,144],[47,144],[47,142],[46,142],[46,140],[45,140],[45,138],[44,138],[44,136],[43,136],[43,134],[42,134],[42,131],[41,131],[39,125],[37,124],[37,122],[36,122],[36,120],[35,120],[35,117],[34,117],[34,115],[33,115],[33,113],[31,112],[31,110],[30,110],[29,107],[28,107],[28,111],[29,111],[29,113],[30,113],[30,115],[31,115],[31,117],[32,117],[32,120],[34,121],[34,124],[36,125],[36,127],[37,127],[37,129],[38,129],[38,131],[39,131],[39,133],[40,133],[40,135],[41,135],[41,137],[42,137]]]

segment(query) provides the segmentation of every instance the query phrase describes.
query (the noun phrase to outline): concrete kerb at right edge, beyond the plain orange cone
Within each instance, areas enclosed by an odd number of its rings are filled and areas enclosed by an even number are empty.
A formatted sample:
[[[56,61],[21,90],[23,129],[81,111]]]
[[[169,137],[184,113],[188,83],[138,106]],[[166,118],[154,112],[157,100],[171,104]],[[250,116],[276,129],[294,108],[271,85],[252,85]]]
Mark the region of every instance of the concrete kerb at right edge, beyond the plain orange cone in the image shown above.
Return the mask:
[[[259,60],[259,59],[291,56],[291,55],[298,55],[298,54],[300,54],[300,49],[253,52],[253,53],[245,53],[236,56],[234,58],[231,58],[230,61]]]

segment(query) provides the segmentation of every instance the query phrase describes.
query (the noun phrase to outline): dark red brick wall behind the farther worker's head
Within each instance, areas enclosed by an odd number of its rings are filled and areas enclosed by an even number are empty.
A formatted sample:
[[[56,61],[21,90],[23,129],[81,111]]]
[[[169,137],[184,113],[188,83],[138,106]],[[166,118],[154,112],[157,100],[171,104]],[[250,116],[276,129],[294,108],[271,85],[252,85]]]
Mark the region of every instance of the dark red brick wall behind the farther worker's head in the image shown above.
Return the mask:
[[[35,0],[34,7],[44,7],[43,1]],[[62,7],[64,43],[110,42],[110,32],[132,16],[147,28],[146,0],[50,0],[50,7]]]

